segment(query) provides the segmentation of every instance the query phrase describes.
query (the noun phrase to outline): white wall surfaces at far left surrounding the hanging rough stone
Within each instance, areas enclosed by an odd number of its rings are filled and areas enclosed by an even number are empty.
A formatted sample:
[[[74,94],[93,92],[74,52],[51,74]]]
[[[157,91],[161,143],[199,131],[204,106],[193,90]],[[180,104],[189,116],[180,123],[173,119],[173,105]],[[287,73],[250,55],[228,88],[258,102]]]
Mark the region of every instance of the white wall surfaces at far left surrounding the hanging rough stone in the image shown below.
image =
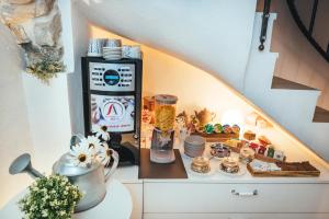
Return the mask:
[[[64,28],[66,35],[67,31],[71,31],[66,19],[70,18],[70,13],[63,11],[63,21],[66,22]],[[64,36],[63,39],[69,54],[70,38]],[[53,163],[69,150],[71,124],[67,74],[59,73],[49,85],[46,85],[23,72],[24,61],[15,37],[2,24],[0,24],[0,47],[1,207],[32,182],[26,174],[9,175],[8,168],[11,161],[21,153],[30,152],[33,165],[41,172],[49,174]],[[68,69],[71,69],[70,64],[73,61],[66,59],[65,64]]]

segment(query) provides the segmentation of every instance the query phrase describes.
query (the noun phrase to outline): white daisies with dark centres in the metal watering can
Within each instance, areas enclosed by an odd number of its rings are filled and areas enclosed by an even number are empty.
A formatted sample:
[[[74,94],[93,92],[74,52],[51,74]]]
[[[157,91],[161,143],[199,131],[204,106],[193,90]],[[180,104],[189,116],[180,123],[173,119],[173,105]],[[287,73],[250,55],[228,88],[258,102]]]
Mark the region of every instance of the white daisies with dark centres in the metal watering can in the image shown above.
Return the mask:
[[[98,161],[104,166],[111,162],[113,149],[110,149],[107,142],[110,135],[106,127],[100,127],[92,136],[80,139],[80,142],[71,147],[70,155],[72,162],[78,166],[89,168]]]

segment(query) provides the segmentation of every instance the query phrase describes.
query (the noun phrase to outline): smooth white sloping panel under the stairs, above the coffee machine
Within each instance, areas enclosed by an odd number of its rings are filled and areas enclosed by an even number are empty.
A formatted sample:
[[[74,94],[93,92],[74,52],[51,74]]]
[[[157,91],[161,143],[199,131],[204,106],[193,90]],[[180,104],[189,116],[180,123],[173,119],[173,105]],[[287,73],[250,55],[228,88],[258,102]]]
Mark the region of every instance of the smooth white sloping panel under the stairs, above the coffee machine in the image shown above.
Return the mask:
[[[174,54],[241,91],[256,0],[75,2],[91,23]]]

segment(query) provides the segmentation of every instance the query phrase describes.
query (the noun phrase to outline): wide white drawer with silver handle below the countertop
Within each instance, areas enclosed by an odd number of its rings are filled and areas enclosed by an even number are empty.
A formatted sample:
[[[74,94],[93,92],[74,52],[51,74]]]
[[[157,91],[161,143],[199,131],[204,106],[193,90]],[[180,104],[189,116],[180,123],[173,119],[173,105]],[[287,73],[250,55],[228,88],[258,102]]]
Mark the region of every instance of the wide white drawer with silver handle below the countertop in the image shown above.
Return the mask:
[[[329,212],[328,203],[328,184],[144,185],[144,212]]]

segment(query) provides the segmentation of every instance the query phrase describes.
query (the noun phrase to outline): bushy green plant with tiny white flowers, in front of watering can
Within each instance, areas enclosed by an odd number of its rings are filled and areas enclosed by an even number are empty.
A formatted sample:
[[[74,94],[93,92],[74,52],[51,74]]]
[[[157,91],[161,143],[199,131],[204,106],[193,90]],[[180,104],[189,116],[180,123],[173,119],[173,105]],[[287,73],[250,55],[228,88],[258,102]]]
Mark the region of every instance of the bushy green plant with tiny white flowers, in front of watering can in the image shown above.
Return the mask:
[[[29,191],[19,201],[25,219],[70,219],[82,198],[78,187],[59,175],[37,178]]]

